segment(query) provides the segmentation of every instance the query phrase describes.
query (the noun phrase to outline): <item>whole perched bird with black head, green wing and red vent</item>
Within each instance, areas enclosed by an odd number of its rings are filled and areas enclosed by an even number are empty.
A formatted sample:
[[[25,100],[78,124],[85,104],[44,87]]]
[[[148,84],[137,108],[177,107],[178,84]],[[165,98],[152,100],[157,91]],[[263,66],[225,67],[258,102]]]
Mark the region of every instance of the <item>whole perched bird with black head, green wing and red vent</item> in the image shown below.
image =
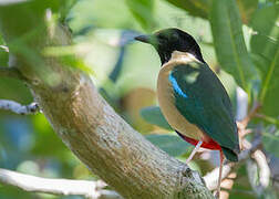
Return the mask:
[[[220,167],[216,196],[220,193],[224,156],[238,161],[239,137],[230,98],[200,48],[187,32],[168,28],[135,40],[155,48],[161,59],[157,98],[172,128],[195,146],[186,164],[202,148],[219,150]]]

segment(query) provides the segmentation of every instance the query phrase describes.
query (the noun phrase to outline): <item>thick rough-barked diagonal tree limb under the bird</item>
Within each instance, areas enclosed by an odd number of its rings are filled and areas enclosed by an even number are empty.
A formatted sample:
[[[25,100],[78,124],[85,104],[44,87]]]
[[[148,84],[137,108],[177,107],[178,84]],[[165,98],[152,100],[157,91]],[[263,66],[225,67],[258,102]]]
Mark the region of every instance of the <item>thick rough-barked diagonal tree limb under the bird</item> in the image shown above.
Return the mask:
[[[14,55],[11,66],[24,76],[63,143],[124,198],[214,198],[197,172],[122,119],[85,73],[41,54],[45,46],[71,44],[68,30],[52,23],[46,8],[42,0],[0,1],[0,32]]]

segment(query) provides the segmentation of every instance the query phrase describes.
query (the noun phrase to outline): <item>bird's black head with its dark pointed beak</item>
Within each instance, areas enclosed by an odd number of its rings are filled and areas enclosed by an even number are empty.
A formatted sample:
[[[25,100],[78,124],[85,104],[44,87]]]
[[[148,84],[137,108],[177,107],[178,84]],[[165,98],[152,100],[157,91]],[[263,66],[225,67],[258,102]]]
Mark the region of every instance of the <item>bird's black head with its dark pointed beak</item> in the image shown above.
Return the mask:
[[[195,39],[179,29],[164,29],[154,34],[138,35],[135,40],[152,44],[159,54],[162,65],[170,60],[174,51],[190,53],[204,62]]]

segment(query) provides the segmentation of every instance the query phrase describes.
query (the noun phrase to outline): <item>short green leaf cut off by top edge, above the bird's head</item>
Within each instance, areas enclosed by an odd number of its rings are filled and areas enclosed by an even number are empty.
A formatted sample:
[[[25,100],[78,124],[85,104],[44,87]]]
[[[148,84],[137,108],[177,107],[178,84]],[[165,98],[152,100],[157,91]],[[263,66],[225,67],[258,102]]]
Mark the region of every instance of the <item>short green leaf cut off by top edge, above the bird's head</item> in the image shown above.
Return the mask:
[[[186,10],[190,15],[207,19],[211,0],[167,0],[169,3]]]

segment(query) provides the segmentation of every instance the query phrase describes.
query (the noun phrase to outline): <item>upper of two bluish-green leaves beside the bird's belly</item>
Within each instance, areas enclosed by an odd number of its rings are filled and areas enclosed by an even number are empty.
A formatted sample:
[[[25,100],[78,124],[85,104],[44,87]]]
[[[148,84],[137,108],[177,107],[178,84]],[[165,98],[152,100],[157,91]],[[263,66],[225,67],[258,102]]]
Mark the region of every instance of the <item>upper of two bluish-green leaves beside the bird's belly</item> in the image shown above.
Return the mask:
[[[142,117],[149,124],[157,125],[162,128],[172,130],[173,128],[169,126],[165,117],[163,116],[158,106],[148,106],[141,109]]]

